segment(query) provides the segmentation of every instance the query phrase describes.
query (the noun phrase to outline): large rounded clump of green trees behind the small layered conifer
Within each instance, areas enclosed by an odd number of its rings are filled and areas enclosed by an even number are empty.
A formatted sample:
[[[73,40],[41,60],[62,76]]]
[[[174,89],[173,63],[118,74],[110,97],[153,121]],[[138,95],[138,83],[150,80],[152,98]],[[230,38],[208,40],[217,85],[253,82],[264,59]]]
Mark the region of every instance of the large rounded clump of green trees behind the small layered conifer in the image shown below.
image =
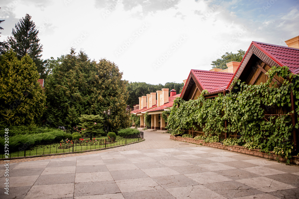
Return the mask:
[[[80,115],[102,115],[110,109],[109,129],[116,131],[129,125],[126,112],[127,81],[118,66],[106,59],[91,61],[80,51],[48,60],[52,74],[46,81],[46,117],[55,127],[66,129],[79,123]],[[108,118],[104,115],[105,125]],[[106,122],[107,121],[107,122]]]

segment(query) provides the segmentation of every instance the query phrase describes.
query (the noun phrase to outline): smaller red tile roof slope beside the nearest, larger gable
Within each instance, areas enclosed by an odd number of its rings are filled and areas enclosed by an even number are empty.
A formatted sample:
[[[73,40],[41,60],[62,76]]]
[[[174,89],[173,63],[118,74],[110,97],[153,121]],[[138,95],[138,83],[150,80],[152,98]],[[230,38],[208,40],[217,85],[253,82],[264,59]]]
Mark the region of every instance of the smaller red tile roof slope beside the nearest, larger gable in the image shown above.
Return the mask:
[[[191,70],[203,90],[208,92],[227,85],[234,73],[206,70]],[[215,91],[214,91],[215,92]]]

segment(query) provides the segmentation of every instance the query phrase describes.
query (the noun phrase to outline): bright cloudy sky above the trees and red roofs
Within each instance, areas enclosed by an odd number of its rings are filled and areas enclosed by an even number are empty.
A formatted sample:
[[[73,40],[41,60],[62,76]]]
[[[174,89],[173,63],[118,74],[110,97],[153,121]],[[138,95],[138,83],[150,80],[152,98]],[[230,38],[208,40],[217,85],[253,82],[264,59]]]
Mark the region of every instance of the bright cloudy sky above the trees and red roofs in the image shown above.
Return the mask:
[[[43,59],[74,47],[115,62],[123,79],[150,84],[181,83],[251,41],[286,46],[299,35],[298,0],[1,0],[0,7],[1,41],[28,13]]]

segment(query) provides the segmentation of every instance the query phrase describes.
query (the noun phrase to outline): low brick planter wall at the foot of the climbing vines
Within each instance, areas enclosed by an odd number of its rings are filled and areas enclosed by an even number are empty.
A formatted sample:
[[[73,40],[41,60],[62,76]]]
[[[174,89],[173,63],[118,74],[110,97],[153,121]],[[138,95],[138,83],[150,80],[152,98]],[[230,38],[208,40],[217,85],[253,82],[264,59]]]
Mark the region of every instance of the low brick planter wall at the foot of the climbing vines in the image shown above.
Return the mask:
[[[224,146],[219,142],[207,143],[203,140],[194,140],[193,138],[182,138],[181,136],[175,137],[173,135],[170,135],[170,139],[178,140],[178,141],[182,141],[182,142],[188,142],[188,143],[192,143],[192,144],[200,144],[200,145],[203,145],[203,146],[210,146],[210,147],[214,147],[214,148],[217,148],[217,149],[224,149],[224,150],[238,152],[238,153],[244,153],[244,154],[247,154],[247,155],[254,155],[254,156],[258,156],[258,157],[262,157],[262,158],[268,158],[268,159],[271,159],[271,160],[277,160],[277,158],[278,158],[279,161],[286,162],[285,158],[282,158],[278,155],[275,155],[274,153],[261,152],[261,151],[259,151],[259,149],[249,150],[247,148],[244,148],[243,146]],[[299,157],[298,156],[293,156],[290,159],[290,162],[293,163],[293,164],[299,165]]]

